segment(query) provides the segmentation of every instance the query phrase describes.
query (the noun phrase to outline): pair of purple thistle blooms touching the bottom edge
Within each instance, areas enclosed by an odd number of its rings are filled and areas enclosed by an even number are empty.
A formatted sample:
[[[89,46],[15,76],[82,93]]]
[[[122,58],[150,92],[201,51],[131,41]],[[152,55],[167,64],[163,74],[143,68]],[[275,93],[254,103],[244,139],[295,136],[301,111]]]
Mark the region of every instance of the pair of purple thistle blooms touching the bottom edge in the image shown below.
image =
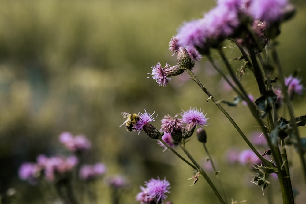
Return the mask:
[[[137,194],[136,200],[140,204],[153,204],[160,203],[168,197],[166,193],[170,193],[169,189],[170,183],[164,178],[161,180],[159,177],[157,179],[151,178],[145,182],[145,186],[140,186],[141,192]]]

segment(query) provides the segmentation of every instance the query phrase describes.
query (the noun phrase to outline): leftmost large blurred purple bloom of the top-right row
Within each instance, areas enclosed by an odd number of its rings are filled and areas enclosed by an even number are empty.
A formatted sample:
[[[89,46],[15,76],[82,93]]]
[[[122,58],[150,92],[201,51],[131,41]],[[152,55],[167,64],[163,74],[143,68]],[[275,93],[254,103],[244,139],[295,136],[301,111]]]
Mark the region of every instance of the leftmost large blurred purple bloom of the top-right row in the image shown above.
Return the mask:
[[[178,31],[178,44],[182,47],[191,46],[205,48],[206,26],[204,19],[184,23]]]

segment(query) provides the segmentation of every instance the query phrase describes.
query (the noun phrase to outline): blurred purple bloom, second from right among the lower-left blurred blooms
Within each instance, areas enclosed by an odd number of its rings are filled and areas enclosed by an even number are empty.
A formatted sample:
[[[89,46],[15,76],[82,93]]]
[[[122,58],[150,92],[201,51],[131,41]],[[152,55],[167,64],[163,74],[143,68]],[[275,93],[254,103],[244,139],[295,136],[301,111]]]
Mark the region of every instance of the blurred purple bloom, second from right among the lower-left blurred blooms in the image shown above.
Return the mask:
[[[106,171],[105,165],[97,163],[95,165],[83,165],[80,168],[79,176],[83,180],[93,180],[104,174]]]

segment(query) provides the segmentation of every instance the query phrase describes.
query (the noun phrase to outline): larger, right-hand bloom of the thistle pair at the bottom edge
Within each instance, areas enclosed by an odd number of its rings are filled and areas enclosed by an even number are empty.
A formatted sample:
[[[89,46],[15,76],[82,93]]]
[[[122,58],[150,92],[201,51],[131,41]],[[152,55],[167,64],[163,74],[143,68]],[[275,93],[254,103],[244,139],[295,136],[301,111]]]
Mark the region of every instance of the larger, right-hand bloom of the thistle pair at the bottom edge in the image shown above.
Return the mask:
[[[157,179],[151,178],[145,182],[145,185],[147,186],[148,198],[153,198],[156,203],[163,202],[168,197],[166,193],[170,193],[170,183],[166,178],[164,180],[160,180],[159,177]]]

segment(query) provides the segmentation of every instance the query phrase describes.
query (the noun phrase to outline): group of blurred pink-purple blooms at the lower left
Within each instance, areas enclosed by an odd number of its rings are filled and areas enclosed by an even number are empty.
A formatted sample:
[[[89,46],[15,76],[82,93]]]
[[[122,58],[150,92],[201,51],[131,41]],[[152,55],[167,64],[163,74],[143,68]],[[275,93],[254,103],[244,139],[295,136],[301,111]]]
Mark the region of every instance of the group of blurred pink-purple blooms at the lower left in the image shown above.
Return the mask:
[[[31,184],[37,184],[42,176],[50,182],[56,182],[69,176],[69,174],[79,164],[79,159],[76,155],[87,151],[91,147],[91,143],[85,136],[73,137],[69,132],[61,133],[59,140],[64,143],[66,148],[75,155],[68,157],[63,155],[47,157],[44,154],[40,154],[36,158],[36,163],[23,163],[19,168],[19,177],[22,180],[26,180]],[[83,165],[78,170],[79,177],[82,180],[93,180],[99,175],[104,174],[106,171],[105,165],[97,163],[95,165]]]

